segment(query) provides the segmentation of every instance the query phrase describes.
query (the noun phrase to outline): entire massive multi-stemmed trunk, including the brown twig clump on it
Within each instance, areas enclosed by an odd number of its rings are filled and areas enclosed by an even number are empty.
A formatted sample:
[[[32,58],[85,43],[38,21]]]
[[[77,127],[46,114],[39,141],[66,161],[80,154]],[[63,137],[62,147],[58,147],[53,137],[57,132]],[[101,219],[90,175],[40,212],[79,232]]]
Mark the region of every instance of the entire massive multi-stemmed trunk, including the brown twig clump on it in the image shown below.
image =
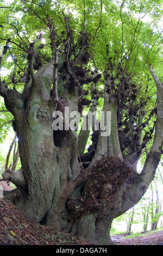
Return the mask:
[[[158,110],[153,146],[142,172],[137,174],[123,160],[117,130],[117,101],[107,90],[108,81],[103,113],[111,113],[110,133],[103,136],[101,122],[95,154],[87,168],[81,168],[76,131],[52,128],[55,110],[63,112],[62,107],[67,106],[71,112],[79,107],[79,77],[64,70],[64,60],[65,56],[61,56],[58,61],[62,75],[58,81],[61,93],[57,108],[51,97],[54,61],[33,74],[22,94],[6,89],[1,82],[5,106],[16,120],[22,163],[21,170],[5,173],[3,179],[17,186],[15,203],[29,220],[107,245],[112,243],[112,220],[139,202],[159,164],[163,138],[162,84],[151,66],[158,89]],[[77,66],[74,69],[72,66],[71,71],[76,69]],[[9,193],[5,196],[10,198]]]

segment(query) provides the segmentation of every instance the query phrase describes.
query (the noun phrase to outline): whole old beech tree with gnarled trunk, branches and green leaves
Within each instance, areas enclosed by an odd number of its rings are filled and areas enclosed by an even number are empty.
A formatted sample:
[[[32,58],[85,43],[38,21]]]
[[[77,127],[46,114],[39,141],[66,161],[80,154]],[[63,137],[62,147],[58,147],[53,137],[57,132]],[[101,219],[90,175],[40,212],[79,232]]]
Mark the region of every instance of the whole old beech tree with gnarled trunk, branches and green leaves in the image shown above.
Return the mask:
[[[29,220],[109,245],[112,220],[146,192],[162,154],[161,8],[1,2],[1,109],[22,164],[3,174],[17,187],[4,196]]]

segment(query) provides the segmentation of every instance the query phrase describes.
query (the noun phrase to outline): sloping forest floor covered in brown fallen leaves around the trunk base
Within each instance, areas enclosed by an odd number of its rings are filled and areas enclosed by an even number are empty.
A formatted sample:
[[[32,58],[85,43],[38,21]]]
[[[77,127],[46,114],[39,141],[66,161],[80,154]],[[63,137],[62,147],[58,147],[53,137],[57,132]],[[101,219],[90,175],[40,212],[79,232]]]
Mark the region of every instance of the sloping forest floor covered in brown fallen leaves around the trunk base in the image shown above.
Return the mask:
[[[0,182],[2,185],[2,182]],[[128,239],[112,235],[115,245],[163,245],[163,230]],[[10,201],[0,198],[0,245],[92,245],[24,218]]]

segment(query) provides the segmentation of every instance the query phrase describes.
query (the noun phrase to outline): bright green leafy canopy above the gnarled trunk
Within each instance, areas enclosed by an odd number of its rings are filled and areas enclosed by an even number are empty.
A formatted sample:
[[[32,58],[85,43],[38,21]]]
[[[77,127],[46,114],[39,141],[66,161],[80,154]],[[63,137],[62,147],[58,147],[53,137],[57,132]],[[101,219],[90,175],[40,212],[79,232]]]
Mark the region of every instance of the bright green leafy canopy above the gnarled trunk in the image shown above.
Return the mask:
[[[131,94],[128,99],[123,99],[126,113],[129,111],[127,103],[134,97],[137,97],[134,104],[139,105],[141,102],[142,105],[147,105],[148,102],[153,108],[155,87],[149,65],[152,64],[158,74],[161,74],[161,10],[161,1],[1,2],[1,51],[5,46],[8,50],[1,63],[2,81],[5,78],[5,86],[15,87],[18,92],[23,91],[24,82],[29,78],[30,44],[38,35],[40,38],[35,45],[34,70],[37,71],[51,60],[52,23],[57,47],[66,40],[67,33],[72,34],[70,59],[75,59],[80,47],[85,44],[85,56],[82,58],[86,69],[93,71],[96,68],[102,75],[109,71],[120,102],[121,94]],[[69,32],[66,30],[66,19]],[[5,76],[5,71],[8,76]],[[134,88],[130,87],[130,94],[129,89],[120,86],[122,75],[134,84]],[[101,92],[104,88],[103,81],[104,79],[101,79],[97,84],[97,89]],[[92,90],[90,84],[84,84],[84,87]],[[144,92],[148,92],[146,99]],[[87,97],[90,99],[90,93]],[[101,99],[99,94],[99,105]],[[5,107],[2,101],[1,111],[3,110]],[[9,127],[9,120],[12,119],[10,113],[2,113],[1,124],[4,129],[1,129],[1,135],[7,134],[5,131]],[[147,113],[149,114],[149,109]]]

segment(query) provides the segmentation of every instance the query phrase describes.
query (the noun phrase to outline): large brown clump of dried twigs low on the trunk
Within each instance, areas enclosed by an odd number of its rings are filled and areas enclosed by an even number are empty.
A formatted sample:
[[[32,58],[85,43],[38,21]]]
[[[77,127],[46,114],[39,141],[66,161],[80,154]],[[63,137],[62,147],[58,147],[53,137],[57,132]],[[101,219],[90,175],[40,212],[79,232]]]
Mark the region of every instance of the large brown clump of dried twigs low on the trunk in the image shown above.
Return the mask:
[[[97,160],[79,200],[70,200],[68,208],[78,218],[81,214],[114,208],[116,192],[127,191],[135,180],[135,172],[127,163],[114,156],[103,156]]]

